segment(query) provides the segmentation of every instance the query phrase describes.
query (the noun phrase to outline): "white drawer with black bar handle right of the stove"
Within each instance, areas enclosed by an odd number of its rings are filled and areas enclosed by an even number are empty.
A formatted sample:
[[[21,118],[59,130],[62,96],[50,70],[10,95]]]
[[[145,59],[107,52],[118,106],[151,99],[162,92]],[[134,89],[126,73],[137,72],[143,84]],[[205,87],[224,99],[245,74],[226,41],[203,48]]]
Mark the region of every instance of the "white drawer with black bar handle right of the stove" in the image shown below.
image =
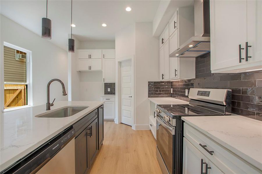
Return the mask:
[[[259,169],[186,123],[184,123],[184,137],[224,173],[261,173]],[[210,152],[213,155],[208,151],[213,151]]]

